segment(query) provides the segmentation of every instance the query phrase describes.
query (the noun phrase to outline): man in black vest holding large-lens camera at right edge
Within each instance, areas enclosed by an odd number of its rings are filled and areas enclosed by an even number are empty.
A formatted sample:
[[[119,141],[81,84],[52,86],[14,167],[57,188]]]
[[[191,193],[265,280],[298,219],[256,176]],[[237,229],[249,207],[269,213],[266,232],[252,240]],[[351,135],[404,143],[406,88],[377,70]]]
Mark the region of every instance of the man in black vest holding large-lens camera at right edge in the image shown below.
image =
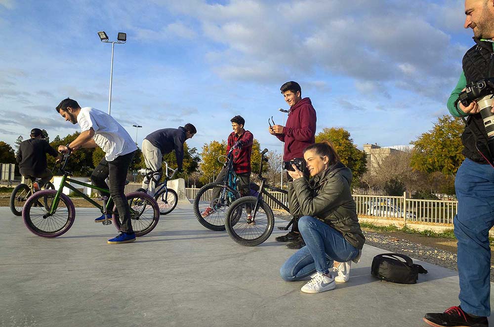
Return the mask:
[[[461,135],[462,154],[466,158],[454,182],[458,198],[458,214],[453,223],[458,240],[460,305],[444,313],[426,314],[424,321],[431,326],[483,327],[488,326],[487,317],[491,315],[489,230],[494,225],[494,170],[489,161],[492,163],[494,153],[488,150],[487,132],[480,114],[483,108],[479,108],[478,101],[464,106],[459,94],[467,84],[494,77],[494,0],[466,0],[465,14],[464,28],[473,30],[476,44],[465,53],[463,72],[448,100],[453,116],[467,117]],[[488,106],[484,110],[490,109]]]

